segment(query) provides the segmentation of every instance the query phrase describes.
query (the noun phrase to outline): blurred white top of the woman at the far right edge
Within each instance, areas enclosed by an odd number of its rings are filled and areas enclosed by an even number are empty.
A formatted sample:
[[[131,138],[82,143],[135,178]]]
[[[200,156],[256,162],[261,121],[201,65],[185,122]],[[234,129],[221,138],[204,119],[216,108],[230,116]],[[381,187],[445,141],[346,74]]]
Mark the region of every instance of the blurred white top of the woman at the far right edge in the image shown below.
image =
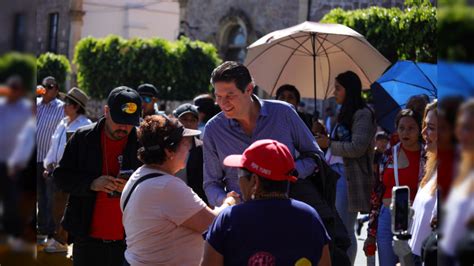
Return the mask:
[[[448,255],[454,256],[456,246],[461,238],[467,234],[467,223],[474,216],[474,197],[471,192],[474,171],[466,179],[451,188],[448,199],[443,208],[446,211],[441,227],[443,238],[440,241],[441,249]]]

